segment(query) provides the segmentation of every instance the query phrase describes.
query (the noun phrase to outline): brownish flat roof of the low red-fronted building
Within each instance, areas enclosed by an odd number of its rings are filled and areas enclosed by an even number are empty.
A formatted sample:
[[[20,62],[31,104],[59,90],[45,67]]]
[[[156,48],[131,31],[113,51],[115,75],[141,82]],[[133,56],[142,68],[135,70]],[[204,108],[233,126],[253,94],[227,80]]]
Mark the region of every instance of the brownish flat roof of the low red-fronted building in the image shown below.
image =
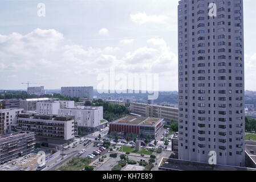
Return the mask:
[[[113,123],[124,123],[132,125],[155,125],[161,121],[162,118],[151,118],[151,117],[138,117],[138,116],[127,116],[117,119]]]

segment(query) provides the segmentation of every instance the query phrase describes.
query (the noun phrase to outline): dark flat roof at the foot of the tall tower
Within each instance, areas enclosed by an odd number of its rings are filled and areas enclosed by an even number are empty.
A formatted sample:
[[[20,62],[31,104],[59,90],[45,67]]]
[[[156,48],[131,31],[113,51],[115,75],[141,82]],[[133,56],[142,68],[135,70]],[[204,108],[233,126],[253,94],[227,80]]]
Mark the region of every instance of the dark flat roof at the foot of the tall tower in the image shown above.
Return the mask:
[[[165,168],[174,171],[256,171],[254,168],[211,165],[208,163],[191,162],[188,160],[162,158],[159,168]]]

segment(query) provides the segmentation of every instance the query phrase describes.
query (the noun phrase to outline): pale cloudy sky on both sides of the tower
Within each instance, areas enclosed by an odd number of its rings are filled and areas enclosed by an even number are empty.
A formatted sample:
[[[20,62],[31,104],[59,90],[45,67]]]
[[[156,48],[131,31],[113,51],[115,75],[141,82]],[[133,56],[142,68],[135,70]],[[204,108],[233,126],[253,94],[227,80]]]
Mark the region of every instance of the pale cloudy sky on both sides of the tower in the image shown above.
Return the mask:
[[[45,16],[40,16],[44,3]],[[111,70],[178,89],[178,0],[0,0],[0,89],[99,86]],[[256,90],[256,1],[244,0],[245,89]],[[38,15],[39,12],[39,15]],[[110,69],[111,68],[111,69]],[[115,82],[115,83],[116,83]]]

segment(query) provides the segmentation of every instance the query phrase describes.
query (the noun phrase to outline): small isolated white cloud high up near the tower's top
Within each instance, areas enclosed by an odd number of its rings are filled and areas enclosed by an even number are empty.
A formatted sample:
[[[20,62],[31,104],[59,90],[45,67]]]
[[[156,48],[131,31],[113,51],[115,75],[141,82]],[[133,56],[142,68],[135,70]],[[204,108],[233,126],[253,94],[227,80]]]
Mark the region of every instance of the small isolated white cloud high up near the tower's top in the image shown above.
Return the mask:
[[[144,23],[167,23],[168,16],[166,15],[147,15],[146,13],[131,14],[130,18],[132,22],[138,24]]]

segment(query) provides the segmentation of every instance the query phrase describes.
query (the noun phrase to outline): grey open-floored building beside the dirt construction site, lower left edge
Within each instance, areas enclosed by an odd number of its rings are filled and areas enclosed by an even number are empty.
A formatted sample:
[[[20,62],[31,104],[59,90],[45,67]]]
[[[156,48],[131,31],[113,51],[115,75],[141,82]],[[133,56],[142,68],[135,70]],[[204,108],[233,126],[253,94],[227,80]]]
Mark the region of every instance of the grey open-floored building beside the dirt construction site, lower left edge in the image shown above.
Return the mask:
[[[0,163],[19,158],[34,150],[35,133],[20,131],[0,135]]]

